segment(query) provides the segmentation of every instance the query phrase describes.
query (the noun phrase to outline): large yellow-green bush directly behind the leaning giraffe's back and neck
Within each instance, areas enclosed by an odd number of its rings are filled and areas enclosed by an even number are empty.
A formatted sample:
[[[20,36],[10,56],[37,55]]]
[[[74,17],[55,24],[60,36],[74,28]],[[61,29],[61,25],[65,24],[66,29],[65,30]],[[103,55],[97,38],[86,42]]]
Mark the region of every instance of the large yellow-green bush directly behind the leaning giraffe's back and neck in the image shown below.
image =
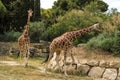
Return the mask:
[[[101,21],[102,19],[99,16],[96,16],[90,12],[88,13],[81,10],[72,10],[64,16],[59,16],[57,18],[58,23],[47,28],[47,30],[43,33],[43,36],[45,40],[51,41],[53,38],[60,36],[66,31],[78,30]],[[86,42],[93,35],[94,32],[91,32],[88,36],[84,36],[83,41],[81,40],[78,42]]]

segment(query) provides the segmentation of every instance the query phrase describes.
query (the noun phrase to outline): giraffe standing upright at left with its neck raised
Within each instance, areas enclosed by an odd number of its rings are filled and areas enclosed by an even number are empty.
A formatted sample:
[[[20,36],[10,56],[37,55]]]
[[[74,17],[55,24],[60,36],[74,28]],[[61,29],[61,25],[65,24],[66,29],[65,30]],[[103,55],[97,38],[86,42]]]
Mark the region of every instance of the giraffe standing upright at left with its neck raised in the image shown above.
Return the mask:
[[[32,16],[33,11],[31,9],[28,10],[28,19],[27,24],[25,25],[25,29],[22,33],[22,35],[18,38],[18,48],[20,50],[20,60],[22,57],[22,54],[24,56],[25,60],[25,67],[28,64],[28,58],[30,55],[29,47],[30,47],[30,38],[29,38],[29,26],[30,26],[30,17]]]

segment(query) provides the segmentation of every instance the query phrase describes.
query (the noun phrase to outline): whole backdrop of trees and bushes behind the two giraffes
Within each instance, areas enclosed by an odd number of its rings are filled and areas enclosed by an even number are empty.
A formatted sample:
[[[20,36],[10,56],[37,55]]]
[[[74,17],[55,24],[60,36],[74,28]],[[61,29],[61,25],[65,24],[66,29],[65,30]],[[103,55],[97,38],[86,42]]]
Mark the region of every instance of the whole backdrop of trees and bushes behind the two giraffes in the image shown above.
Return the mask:
[[[34,13],[30,25],[31,42],[52,41],[66,31],[100,23],[102,32],[90,32],[74,44],[87,43],[88,49],[120,53],[120,13],[108,10],[102,0],[57,0],[51,9],[40,8],[40,0],[0,0],[0,41],[17,41],[27,21],[27,10]]]

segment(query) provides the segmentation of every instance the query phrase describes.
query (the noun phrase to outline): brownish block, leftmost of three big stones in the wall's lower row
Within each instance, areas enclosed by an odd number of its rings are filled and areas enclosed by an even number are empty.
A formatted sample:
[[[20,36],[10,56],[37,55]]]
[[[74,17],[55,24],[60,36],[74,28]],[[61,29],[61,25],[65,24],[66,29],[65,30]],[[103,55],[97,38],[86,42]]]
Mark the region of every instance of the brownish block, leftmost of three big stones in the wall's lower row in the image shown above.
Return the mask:
[[[82,74],[87,75],[89,70],[90,70],[90,66],[88,65],[82,65],[82,64],[77,65],[77,71],[81,72]]]

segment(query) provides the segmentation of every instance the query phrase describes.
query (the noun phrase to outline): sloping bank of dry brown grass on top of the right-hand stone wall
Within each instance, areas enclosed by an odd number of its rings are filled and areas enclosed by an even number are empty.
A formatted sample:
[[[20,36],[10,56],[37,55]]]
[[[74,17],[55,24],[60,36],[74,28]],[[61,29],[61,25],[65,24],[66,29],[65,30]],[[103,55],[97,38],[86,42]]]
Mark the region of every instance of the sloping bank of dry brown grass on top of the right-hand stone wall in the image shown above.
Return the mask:
[[[113,55],[101,50],[86,50],[83,47],[79,47],[75,51],[75,57],[78,59],[88,59],[88,60],[120,60],[119,55]]]

